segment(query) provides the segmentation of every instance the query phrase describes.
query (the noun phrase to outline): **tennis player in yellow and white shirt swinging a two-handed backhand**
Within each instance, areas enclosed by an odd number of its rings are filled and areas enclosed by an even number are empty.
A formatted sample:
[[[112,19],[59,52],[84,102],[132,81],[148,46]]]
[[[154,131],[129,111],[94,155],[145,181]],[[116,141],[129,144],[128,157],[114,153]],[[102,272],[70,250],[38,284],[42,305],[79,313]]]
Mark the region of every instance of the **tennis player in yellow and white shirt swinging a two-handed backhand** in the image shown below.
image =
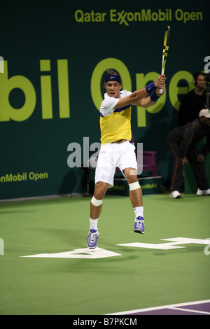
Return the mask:
[[[97,247],[99,231],[97,223],[102,212],[103,199],[106,190],[113,186],[116,167],[119,167],[130,187],[130,200],[134,207],[134,232],[144,234],[144,207],[142,190],[137,178],[137,159],[135,147],[130,143],[131,107],[148,108],[160,98],[158,90],[165,92],[165,75],[145,88],[129,92],[122,90],[123,82],[118,73],[112,69],[106,71],[104,101],[100,108],[101,149],[95,172],[94,195],[90,202],[90,231],[87,237],[87,247]],[[146,97],[150,94],[150,97]]]

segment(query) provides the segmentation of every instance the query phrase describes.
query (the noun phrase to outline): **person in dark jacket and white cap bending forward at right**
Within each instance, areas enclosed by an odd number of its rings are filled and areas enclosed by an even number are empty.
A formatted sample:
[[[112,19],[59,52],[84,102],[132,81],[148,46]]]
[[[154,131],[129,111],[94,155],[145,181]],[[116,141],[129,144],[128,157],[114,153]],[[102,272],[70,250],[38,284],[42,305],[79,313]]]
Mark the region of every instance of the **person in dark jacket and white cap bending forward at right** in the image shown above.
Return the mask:
[[[198,142],[207,137],[207,143],[199,152],[195,146]],[[210,195],[209,183],[204,166],[204,160],[210,153],[210,110],[202,109],[199,118],[182,127],[176,127],[167,135],[167,143],[173,156],[173,171],[170,184],[171,197],[181,197],[181,179],[183,166],[190,162],[198,186],[197,195]]]

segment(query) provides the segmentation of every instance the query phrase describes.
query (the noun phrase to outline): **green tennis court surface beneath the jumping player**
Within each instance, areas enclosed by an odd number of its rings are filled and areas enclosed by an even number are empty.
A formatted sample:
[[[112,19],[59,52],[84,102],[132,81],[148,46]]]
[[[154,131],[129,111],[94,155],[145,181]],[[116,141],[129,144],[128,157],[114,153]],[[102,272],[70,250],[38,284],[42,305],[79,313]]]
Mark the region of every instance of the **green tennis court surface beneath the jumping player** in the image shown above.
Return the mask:
[[[1,203],[0,314],[97,315],[208,300],[209,201],[145,196],[146,233],[137,235],[129,197],[107,196],[92,253],[90,197]],[[163,240],[177,237],[198,242]],[[122,246],[132,243],[146,245]]]

